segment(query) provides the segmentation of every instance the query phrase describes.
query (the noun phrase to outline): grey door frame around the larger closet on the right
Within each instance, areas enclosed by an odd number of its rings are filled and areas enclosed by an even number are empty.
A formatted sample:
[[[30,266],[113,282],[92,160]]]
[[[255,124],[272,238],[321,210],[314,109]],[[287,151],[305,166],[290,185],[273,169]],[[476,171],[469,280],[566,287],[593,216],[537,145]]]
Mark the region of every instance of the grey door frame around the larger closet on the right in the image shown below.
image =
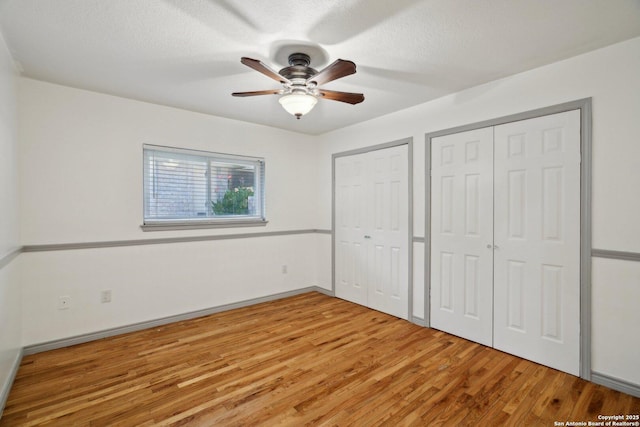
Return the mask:
[[[431,290],[431,142],[433,138],[459,132],[529,120],[566,111],[580,110],[580,378],[591,380],[591,98],[498,117],[425,134],[425,245],[424,322],[430,327]]]

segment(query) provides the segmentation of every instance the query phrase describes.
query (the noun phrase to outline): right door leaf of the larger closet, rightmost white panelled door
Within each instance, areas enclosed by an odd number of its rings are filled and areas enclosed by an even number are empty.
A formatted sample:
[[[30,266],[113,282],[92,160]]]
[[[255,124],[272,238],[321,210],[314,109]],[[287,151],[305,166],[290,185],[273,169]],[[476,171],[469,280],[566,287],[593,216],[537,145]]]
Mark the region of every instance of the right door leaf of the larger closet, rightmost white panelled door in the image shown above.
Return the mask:
[[[578,110],[496,126],[494,214],[494,347],[578,375]]]

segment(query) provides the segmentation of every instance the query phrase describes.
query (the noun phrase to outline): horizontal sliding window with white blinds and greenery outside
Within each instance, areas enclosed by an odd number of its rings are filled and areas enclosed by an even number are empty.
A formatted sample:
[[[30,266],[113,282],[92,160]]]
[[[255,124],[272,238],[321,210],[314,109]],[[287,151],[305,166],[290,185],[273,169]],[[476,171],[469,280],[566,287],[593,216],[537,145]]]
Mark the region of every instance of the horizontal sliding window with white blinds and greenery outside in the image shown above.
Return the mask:
[[[145,230],[266,224],[264,159],[143,146]]]

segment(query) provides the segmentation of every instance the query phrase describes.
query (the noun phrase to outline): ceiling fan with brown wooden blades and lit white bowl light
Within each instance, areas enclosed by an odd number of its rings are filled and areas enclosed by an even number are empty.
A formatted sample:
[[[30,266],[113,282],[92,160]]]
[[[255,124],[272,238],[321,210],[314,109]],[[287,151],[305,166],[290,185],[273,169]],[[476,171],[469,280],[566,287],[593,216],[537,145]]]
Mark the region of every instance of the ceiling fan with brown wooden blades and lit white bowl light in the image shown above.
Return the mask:
[[[338,92],[335,90],[319,89],[318,86],[345,77],[356,72],[356,64],[344,59],[338,59],[321,71],[309,66],[311,58],[305,53],[289,55],[289,66],[276,72],[257,59],[243,57],[242,62],[247,67],[270,77],[282,84],[282,89],[257,90],[253,92],[234,92],[233,96],[282,95],[278,102],[290,114],[300,119],[307,114],[318,102],[324,98],[331,101],[359,104],[364,101],[361,93]]]

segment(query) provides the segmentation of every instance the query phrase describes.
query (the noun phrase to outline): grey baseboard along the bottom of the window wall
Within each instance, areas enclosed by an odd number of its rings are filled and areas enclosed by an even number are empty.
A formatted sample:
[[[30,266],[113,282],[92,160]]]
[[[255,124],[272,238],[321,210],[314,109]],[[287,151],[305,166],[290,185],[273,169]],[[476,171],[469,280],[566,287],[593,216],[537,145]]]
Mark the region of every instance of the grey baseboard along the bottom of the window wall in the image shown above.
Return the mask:
[[[174,316],[163,317],[155,320],[148,320],[145,322],[135,323],[132,325],[120,326],[117,328],[105,329],[97,332],[90,332],[88,334],[77,335],[69,338],[62,338],[59,340],[53,340],[43,342],[39,344],[33,344],[24,348],[24,354],[36,354],[43,351],[55,350],[58,348],[69,347],[76,344],[83,344],[90,341],[99,340],[102,338],[113,337],[116,335],[126,334],[129,332],[141,331],[143,329],[155,328],[157,326],[167,325],[169,323],[180,322],[182,320],[195,319],[197,317],[208,316],[214,313],[220,313],[223,311],[233,310],[236,308],[247,307],[250,305],[260,304],[268,301],[275,301],[282,298],[292,297],[294,295],[300,295],[307,292],[320,292],[322,294],[333,296],[331,291],[321,288],[319,286],[309,286],[302,289],[295,289],[293,291],[280,292],[273,295],[267,295],[259,298],[252,298],[249,300],[234,302],[231,304],[220,305],[211,308],[205,308],[203,310],[192,311],[189,313],[176,314]]]

